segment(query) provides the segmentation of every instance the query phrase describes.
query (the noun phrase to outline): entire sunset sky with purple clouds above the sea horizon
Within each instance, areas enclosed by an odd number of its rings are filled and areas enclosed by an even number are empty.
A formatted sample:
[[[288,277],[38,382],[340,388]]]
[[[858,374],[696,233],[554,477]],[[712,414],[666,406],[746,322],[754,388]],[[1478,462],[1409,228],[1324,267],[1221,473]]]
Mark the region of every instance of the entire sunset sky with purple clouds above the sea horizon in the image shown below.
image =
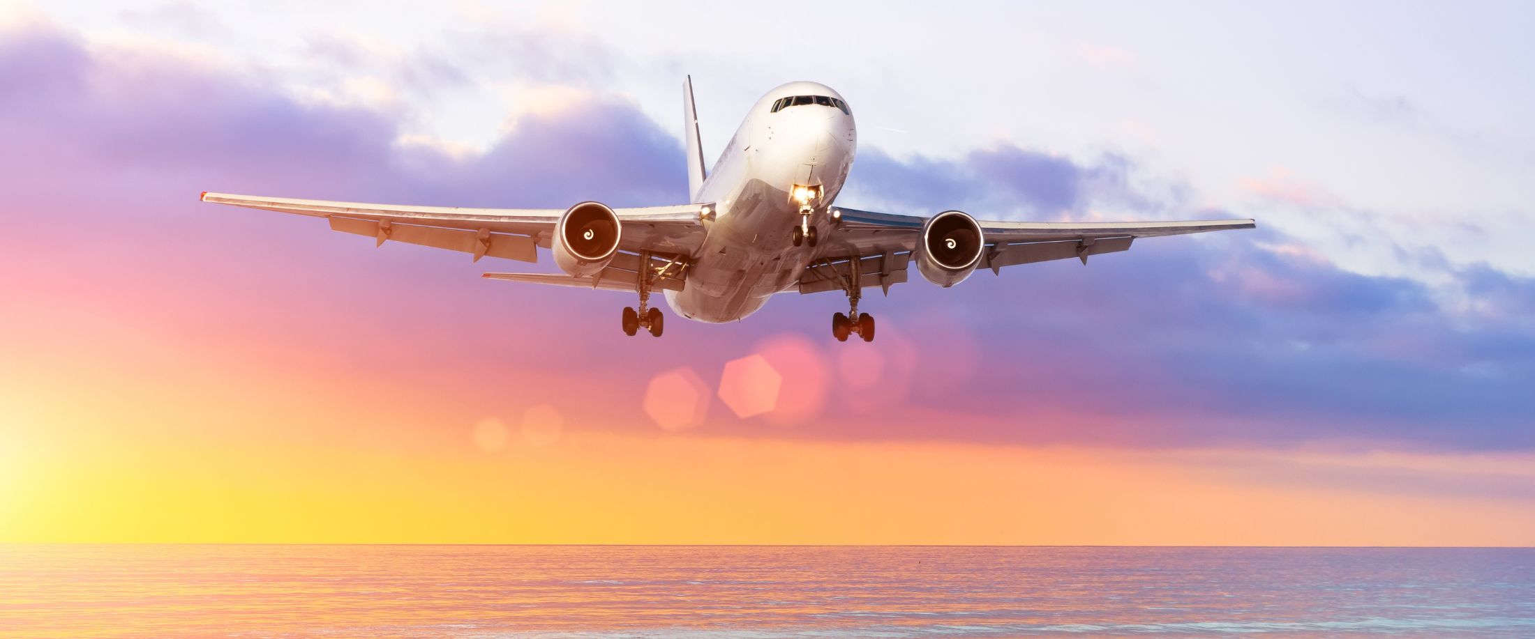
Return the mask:
[[[1532,12],[3,2],[0,542],[1535,544]],[[849,207],[1259,228],[639,339],[196,201],[678,204],[688,74]]]

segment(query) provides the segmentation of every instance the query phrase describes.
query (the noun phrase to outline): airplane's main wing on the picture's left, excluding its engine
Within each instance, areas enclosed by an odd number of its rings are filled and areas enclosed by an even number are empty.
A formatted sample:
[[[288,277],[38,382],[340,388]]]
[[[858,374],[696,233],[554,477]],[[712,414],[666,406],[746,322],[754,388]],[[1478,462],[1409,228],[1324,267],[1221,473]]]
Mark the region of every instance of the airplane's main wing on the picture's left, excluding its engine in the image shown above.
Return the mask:
[[[419,244],[482,256],[537,262],[536,247],[550,247],[563,208],[459,208],[399,204],[330,202],[203,193],[204,202],[327,218],[330,228],[385,241]],[[698,215],[708,204],[614,208],[623,231],[620,251],[692,254],[703,244]]]

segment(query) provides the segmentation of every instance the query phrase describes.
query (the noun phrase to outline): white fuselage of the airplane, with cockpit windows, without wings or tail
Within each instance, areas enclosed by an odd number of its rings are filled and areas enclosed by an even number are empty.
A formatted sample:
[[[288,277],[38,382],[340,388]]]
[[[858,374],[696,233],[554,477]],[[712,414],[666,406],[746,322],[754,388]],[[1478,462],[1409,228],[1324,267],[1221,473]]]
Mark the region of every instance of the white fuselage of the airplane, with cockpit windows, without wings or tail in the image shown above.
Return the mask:
[[[666,303],[698,322],[734,322],[755,313],[801,271],[837,247],[829,208],[853,164],[858,132],[837,106],[801,104],[772,112],[786,97],[841,95],[818,83],[780,86],[752,106],[694,199],[714,202],[708,236],[688,267],[688,285],[666,291]],[[846,101],[843,103],[846,104]],[[810,201],[795,187],[818,188]],[[801,207],[821,238],[795,247]]]

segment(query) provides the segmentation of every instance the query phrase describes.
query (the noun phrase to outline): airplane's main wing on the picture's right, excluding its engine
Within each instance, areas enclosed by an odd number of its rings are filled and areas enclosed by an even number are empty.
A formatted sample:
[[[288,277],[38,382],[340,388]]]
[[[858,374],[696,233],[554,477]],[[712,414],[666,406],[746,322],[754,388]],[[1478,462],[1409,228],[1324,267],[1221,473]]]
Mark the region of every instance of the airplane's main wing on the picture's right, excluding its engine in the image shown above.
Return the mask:
[[[843,291],[857,277],[860,288],[906,282],[906,267],[927,218],[835,207],[840,215],[832,234],[832,257],[812,262],[800,277],[801,294]],[[1154,221],[1154,222],[1005,222],[976,221],[985,248],[981,264],[1001,274],[1002,267],[1130,250],[1137,238],[1254,228],[1251,219]]]

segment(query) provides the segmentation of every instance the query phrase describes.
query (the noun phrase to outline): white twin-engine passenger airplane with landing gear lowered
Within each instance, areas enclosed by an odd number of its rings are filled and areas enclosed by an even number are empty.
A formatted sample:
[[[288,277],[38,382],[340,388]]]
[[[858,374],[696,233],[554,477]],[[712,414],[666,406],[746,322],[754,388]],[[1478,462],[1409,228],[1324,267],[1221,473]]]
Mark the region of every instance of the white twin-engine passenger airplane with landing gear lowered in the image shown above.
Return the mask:
[[[778,293],[841,291],[849,311],[832,336],[872,342],[873,317],[858,311],[863,290],[907,280],[907,267],[953,287],[976,270],[1117,253],[1139,238],[1253,228],[1253,219],[1148,222],[981,221],[946,210],[932,216],[876,213],[834,204],[853,162],[852,109],[826,84],[795,81],[758,100],[712,170],[705,170],[692,78],[683,81],[688,201],[612,208],[583,201],[557,208],[457,208],[330,202],[204,192],[204,202],[327,218],[330,228],[376,239],[537,262],[548,250],[562,273],[485,273],[484,277],[639,296],[623,333],[662,336],[666,305],[691,320],[735,322]]]

